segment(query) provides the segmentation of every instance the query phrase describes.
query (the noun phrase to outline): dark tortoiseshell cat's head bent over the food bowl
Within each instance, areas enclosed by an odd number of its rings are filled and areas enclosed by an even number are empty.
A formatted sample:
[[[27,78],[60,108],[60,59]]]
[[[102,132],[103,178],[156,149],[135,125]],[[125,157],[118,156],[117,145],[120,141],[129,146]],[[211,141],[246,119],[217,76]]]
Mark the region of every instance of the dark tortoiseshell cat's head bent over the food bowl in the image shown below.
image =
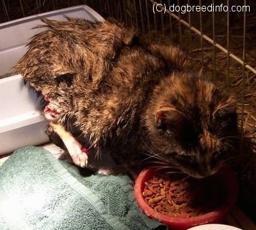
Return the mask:
[[[158,158],[190,176],[209,176],[237,142],[236,101],[209,82],[173,73],[155,91],[147,127]]]

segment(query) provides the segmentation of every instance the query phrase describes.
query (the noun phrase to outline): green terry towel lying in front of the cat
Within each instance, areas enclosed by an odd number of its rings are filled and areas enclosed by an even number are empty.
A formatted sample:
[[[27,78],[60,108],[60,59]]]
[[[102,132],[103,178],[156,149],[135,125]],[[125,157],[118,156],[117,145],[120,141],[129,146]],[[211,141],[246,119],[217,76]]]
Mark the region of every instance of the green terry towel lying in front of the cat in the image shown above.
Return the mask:
[[[146,217],[125,175],[83,175],[28,146],[0,167],[0,229],[167,229]]]

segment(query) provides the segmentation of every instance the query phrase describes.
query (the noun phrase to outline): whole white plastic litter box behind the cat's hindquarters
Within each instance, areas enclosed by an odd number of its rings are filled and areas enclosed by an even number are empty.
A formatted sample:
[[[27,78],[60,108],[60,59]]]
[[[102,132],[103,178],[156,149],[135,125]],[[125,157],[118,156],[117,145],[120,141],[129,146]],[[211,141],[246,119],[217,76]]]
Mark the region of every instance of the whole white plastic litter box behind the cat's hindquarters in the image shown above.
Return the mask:
[[[12,75],[12,68],[25,54],[31,36],[43,30],[32,29],[42,24],[38,17],[65,20],[63,15],[104,20],[92,8],[81,5],[0,24],[0,76],[8,76],[0,79],[0,155],[48,141],[47,123],[39,110],[40,100],[24,85],[21,75]]]

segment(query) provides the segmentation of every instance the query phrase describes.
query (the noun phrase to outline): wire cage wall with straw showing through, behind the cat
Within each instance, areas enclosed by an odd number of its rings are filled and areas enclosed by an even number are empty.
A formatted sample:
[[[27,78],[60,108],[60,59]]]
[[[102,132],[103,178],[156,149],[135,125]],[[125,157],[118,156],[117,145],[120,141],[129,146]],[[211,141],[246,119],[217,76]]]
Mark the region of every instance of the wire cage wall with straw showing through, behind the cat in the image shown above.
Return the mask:
[[[236,166],[244,183],[243,191],[255,204],[256,3],[246,0],[1,0],[0,22],[79,4],[87,4],[102,17],[113,17],[127,27],[136,27],[145,40],[181,45],[188,50],[195,70],[237,96],[241,158]],[[192,11],[188,6],[208,8]]]

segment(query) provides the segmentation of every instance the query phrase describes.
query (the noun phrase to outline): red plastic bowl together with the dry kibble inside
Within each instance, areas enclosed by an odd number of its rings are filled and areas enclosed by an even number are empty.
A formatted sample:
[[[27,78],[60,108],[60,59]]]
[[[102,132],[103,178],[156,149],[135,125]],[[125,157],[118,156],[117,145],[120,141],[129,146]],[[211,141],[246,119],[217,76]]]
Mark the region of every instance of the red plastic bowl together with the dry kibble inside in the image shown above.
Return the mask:
[[[204,179],[165,175],[166,171],[143,170],[134,192],[141,210],[170,229],[221,222],[236,203],[238,183],[230,168]]]

